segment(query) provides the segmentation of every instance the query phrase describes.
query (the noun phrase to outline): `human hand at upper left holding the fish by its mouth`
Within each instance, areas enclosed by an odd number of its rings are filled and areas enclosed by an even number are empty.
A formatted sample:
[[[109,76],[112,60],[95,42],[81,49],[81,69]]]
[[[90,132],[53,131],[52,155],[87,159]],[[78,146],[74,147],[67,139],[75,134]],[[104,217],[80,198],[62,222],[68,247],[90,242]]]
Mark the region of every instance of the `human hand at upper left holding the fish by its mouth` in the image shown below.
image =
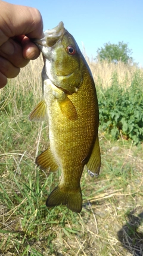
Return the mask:
[[[30,59],[38,58],[38,47],[30,38],[42,38],[43,23],[39,11],[0,0],[0,88],[7,78],[16,77]]]

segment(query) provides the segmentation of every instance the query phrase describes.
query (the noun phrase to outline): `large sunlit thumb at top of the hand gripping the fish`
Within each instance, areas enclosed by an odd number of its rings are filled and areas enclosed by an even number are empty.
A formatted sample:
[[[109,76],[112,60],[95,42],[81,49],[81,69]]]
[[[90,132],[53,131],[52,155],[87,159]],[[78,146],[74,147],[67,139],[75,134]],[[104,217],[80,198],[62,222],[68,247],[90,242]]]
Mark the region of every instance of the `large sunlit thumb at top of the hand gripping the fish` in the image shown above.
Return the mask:
[[[8,4],[3,1],[0,1],[0,7],[4,10],[0,16],[0,32],[5,35],[5,38],[4,35],[0,37],[0,45],[7,41],[7,38],[15,35],[27,35],[29,38],[43,37],[42,17],[36,8]]]

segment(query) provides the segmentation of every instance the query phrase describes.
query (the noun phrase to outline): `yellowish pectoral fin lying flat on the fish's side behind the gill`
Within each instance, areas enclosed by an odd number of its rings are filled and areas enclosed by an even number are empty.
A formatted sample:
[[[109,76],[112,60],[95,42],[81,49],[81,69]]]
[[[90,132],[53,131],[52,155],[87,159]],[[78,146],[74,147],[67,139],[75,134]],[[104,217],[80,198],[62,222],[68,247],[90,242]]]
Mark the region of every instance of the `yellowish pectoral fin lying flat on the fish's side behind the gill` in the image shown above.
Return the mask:
[[[70,120],[77,119],[76,108],[74,107],[74,105],[70,101],[70,99],[67,97],[67,95],[65,96],[65,98],[63,100],[57,99],[57,101],[60,106],[61,113],[63,113],[64,116],[66,116]]]

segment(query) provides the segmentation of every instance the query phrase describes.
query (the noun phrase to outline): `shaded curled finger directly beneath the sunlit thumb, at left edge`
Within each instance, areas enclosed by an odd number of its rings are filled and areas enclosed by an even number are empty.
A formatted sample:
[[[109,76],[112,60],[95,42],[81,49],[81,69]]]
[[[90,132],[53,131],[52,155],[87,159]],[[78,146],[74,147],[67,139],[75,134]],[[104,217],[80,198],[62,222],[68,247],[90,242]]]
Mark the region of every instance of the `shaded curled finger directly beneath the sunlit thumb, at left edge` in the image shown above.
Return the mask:
[[[25,67],[29,62],[23,57],[22,46],[11,38],[0,47],[0,56],[18,68]]]

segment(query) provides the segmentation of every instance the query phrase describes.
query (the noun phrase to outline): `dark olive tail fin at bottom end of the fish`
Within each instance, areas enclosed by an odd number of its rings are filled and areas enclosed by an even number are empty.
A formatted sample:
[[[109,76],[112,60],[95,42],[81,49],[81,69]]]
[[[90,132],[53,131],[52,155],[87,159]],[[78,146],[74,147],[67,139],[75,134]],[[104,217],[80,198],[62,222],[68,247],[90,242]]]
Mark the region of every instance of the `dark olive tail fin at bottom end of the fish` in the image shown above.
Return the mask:
[[[82,210],[81,188],[67,191],[67,189],[56,186],[46,200],[46,206],[53,207],[60,204],[66,205],[73,212],[80,212]]]

